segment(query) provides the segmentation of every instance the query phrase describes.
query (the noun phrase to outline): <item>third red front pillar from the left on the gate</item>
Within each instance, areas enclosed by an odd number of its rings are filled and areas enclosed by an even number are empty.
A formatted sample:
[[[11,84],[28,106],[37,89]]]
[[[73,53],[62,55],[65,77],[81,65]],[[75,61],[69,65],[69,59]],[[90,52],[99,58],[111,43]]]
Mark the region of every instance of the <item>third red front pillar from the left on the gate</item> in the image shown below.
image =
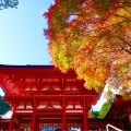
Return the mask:
[[[62,131],[67,131],[66,102],[64,102],[64,99],[63,99],[63,104],[62,104]]]

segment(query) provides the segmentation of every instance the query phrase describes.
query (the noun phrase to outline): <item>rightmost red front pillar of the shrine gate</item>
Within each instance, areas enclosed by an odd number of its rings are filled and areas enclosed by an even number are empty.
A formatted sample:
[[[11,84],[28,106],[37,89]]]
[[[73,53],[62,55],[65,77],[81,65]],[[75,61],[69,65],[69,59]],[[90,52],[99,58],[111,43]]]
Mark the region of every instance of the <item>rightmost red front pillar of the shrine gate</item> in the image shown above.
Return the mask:
[[[88,110],[87,110],[86,103],[84,99],[83,102],[83,127],[84,127],[83,131],[88,131],[87,116],[88,116]]]

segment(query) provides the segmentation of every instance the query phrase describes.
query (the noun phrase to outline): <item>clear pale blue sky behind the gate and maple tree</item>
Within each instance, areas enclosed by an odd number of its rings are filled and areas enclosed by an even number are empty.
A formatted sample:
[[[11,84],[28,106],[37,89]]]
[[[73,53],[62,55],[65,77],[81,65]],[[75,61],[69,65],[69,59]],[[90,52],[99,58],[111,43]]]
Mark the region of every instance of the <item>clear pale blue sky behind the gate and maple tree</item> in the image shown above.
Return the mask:
[[[41,15],[52,1],[19,0],[17,9],[0,10],[0,64],[50,64]],[[102,102],[94,109],[100,106]]]

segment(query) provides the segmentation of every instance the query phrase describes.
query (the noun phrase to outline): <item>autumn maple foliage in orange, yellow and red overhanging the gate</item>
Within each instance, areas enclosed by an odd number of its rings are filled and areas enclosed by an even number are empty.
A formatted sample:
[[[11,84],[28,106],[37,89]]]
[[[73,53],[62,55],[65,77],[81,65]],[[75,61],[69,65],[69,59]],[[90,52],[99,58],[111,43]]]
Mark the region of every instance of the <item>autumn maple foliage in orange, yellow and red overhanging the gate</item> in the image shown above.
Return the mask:
[[[44,15],[55,67],[73,69],[88,90],[108,84],[131,98],[130,0],[55,0]]]

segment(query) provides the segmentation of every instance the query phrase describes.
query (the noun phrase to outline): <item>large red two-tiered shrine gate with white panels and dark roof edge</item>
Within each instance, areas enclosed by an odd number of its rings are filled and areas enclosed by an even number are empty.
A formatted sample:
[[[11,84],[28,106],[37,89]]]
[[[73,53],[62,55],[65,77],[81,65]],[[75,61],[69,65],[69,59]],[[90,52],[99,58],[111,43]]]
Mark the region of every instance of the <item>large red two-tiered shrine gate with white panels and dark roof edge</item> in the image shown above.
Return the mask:
[[[8,130],[73,127],[87,131],[88,110],[98,94],[83,83],[74,71],[61,73],[52,66],[1,66],[0,84],[13,108]]]

